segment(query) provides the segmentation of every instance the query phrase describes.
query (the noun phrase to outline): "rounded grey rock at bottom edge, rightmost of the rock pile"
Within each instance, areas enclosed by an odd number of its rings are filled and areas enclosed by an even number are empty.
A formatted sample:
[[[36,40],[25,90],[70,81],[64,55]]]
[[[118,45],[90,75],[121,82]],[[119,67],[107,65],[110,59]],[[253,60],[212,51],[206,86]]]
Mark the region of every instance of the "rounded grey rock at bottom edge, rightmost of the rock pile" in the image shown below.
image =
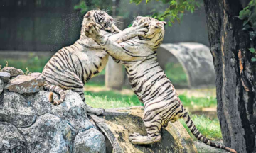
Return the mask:
[[[75,137],[74,142],[75,153],[94,153],[106,152],[105,137],[96,129],[90,129],[85,132],[80,132]]]

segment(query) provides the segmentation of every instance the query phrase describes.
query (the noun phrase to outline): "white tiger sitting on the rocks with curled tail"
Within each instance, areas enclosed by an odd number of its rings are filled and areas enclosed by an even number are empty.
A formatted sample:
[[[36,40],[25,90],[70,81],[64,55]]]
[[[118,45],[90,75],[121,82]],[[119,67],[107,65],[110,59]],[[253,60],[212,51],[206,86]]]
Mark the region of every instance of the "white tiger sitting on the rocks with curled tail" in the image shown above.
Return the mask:
[[[116,42],[128,40],[136,35],[145,35],[147,31],[142,24],[121,32],[114,25],[113,18],[105,11],[88,11],[82,21],[80,39],[75,44],[63,47],[56,52],[43,69],[42,77],[46,80],[44,89],[60,94],[58,101],[53,101],[53,93],[49,95],[49,101],[55,105],[63,103],[65,100],[63,90],[69,89],[78,92],[82,101],[85,101],[84,84],[95,74],[101,72],[107,64],[109,55],[100,45],[97,45],[94,40],[87,38],[85,35],[85,24],[88,23],[95,23],[95,26],[102,31],[103,35]],[[101,115],[104,112],[103,109],[91,108],[87,105],[86,111],[96,115]]]

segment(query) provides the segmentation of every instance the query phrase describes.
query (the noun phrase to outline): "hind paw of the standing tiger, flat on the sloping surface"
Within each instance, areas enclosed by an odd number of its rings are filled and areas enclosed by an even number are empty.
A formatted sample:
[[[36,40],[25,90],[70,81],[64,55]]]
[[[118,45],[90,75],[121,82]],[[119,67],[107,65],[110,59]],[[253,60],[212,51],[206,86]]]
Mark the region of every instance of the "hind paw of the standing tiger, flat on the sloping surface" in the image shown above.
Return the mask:
[[[148,137],[139,135],[139,133],[133,133],[129,135],[129,141],[134,145],[147,145],[161,141],[161,135],[156,137]]]

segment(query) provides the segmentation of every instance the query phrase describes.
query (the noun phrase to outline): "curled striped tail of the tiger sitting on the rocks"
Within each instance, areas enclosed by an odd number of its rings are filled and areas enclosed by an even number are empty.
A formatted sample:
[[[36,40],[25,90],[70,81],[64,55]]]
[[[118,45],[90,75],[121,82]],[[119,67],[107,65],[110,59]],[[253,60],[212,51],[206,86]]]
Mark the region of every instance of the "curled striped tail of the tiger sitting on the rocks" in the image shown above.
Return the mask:
[[[51,91],[48,99],[50,103],[53,103],[53,105],[59,105],[60,103],[63,103],[63,101],[65,100],[65,92],[60,87],[55,85],[46,85],[43,86],[43,88],[48,91]],[[60,99],[58,101],[53,101],[53,92],[60,94]]]

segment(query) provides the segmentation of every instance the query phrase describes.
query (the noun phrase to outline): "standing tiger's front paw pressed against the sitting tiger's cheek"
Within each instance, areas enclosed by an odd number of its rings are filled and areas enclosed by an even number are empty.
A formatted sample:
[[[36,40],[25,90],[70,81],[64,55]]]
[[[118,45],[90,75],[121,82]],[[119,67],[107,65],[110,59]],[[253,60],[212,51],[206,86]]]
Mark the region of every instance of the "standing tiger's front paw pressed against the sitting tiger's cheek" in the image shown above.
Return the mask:
[[[97,28],[95,23],[89,23],[87,26],[85,26],[85,35],[88,38],[92,38],[93,40],[97,41],[97,39],[101,37],[100,29]]]

